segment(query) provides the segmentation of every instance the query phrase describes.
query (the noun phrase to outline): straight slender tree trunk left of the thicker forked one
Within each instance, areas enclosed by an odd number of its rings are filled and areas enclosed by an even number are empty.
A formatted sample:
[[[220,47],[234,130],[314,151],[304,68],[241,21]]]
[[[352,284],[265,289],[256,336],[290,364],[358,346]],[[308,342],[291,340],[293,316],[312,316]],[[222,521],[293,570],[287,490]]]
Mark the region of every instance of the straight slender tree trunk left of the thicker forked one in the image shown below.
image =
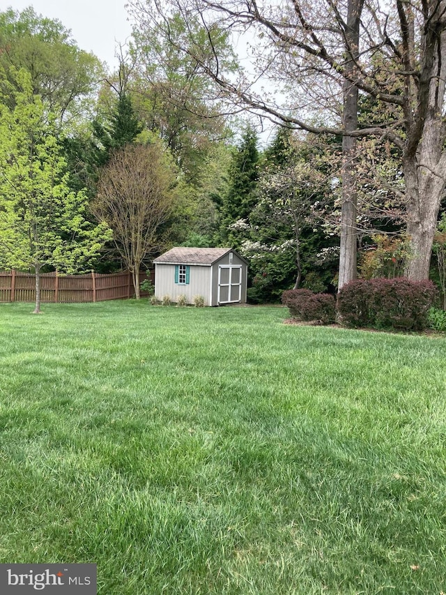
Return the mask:
[[[359,50],[360,16],[363,0],[348,1],[346,27],[347,56],[346,70],[352,77],[355,75],[355,58]],[[353,163],[356,141],[348,133],[357,128],[357,86],[351,81],[344,82],[344,138],[342,140],[342,206],[341,206],[341,246],[339,254],[338,291],[356,278],[357,269],[357,195],[355,192],[355,176]]]

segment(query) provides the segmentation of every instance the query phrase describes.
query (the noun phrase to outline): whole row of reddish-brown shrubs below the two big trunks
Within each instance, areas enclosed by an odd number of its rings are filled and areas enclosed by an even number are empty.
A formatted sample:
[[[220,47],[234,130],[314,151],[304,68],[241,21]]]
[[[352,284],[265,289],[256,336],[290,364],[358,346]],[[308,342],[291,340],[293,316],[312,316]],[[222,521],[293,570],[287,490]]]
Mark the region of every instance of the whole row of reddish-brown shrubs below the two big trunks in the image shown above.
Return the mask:
[[[429,326],[429,310],[436,299],[438,289],[431,281],[406,278],[351,281],[342,287],[337,303],[334,296],[309,289],[289,289],[282,294],[282,303],[300,320],[329,324],[338,315],[346,326],[413,331]]]

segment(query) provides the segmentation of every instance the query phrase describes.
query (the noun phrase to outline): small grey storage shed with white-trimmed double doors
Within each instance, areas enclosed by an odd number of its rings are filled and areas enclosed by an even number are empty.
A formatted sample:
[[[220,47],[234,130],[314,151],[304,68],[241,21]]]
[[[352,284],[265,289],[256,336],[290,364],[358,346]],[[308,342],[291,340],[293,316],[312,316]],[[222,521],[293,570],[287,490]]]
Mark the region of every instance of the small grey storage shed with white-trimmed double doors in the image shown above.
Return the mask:
[[[247,261],[231,248],[172,248],[155,264],[155,296],[203,296],[206,306],[246,303]]]

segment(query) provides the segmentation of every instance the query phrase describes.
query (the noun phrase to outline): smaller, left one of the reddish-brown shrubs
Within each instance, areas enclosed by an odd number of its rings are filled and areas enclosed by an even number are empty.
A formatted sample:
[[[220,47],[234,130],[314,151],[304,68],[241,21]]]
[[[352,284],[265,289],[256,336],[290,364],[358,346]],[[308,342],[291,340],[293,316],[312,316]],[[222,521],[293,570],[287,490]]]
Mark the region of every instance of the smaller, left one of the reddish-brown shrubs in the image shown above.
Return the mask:
[[[314,294],[309,289],[288,289],[282,294],[282,303],[293,318],[330,324],[336,319],[336,303],[331,294]]]

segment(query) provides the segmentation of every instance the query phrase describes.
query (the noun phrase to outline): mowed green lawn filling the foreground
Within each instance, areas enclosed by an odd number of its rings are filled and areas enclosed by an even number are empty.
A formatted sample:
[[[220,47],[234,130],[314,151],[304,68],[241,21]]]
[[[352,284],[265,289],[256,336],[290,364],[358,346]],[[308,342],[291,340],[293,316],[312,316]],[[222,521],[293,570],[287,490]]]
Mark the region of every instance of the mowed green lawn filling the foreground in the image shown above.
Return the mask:
[[[446,340],[0,305],[0,562],[100,595],[446,592]]]

